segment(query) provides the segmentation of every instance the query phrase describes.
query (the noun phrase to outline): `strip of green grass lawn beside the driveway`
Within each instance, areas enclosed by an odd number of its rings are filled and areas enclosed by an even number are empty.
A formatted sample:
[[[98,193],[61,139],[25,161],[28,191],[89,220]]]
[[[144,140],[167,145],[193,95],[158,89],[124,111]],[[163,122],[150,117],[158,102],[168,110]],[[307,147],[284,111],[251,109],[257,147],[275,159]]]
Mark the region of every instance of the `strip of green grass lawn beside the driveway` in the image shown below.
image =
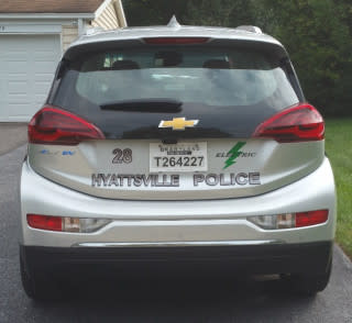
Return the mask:
[[[326,151],[338,189],[337,242],[352,259],[352,118],[326,120]]]

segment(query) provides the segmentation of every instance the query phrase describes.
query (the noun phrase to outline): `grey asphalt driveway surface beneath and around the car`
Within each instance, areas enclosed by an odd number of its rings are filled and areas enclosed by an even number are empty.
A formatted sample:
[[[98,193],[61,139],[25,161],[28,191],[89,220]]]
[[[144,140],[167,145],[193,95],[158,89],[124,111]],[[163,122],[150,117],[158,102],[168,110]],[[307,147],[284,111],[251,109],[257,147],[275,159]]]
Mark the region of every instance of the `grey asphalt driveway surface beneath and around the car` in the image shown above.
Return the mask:
[[[25,147],[0,156],[0,322],[352,322],[352,264],[334,248],[332,278],[316,298],[290,297],[279,281],[77,285],[62,302],[35,303],[21,287],[16,182]],[[73,283],[73,281],[70,282]],[[102,296],[105,296],[102,298]]]

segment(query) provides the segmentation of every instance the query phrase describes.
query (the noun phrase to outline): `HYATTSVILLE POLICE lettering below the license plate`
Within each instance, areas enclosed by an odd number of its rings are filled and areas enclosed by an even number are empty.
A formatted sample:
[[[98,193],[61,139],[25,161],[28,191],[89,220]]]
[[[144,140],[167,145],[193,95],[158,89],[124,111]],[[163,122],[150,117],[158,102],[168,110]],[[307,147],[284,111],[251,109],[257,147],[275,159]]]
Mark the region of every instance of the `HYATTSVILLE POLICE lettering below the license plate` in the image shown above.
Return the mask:
[[[188,177],[183,177],[188,181]],[[230,172],[230,174],[194,174],[194,187],[201,186],[246,186],[260,185],[261,174],[253,172]],[[92,187],[180,187],[179,175],[150,174],[92,174]]]

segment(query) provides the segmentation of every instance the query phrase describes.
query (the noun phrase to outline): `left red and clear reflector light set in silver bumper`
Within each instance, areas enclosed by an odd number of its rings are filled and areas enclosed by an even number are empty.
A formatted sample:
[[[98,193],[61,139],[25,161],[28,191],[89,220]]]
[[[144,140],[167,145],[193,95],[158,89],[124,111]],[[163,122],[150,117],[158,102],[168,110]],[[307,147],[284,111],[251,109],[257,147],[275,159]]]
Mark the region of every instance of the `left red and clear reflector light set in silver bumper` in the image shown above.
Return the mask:
[[[91,233],[110,223],[107,219],[84,219],[26,214],[26,222],[33,229],[72,233]]]

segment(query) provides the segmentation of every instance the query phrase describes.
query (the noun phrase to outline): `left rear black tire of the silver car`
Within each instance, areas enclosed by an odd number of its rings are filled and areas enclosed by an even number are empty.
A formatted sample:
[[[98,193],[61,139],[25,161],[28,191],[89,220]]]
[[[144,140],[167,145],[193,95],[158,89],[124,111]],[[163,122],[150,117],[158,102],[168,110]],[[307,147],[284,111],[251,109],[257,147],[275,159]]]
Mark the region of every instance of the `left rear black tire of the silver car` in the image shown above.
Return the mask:
[[[45,272],[40,270],[40,277],[31,272],[26,267],[26,260],[22,250],[20,252],[20,271],[23,289],[26,296],[33,300],[53,300],[61,298],[57,282]]]

